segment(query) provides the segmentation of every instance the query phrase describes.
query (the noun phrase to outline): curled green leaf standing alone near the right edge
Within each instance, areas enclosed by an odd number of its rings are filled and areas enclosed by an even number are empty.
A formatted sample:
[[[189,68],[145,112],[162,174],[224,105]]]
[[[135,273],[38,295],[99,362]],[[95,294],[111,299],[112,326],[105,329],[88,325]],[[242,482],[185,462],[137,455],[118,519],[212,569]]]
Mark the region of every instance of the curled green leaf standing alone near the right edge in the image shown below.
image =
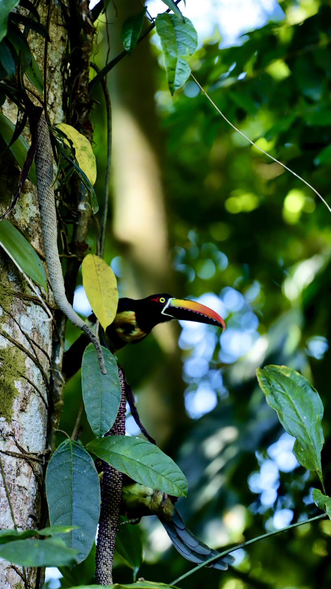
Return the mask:
[[[322,481],[323,404],[319,393],[288,366],[270,365],[257,369],[256,374],[267,403],[277,412],[285,431],[296,438],[293,454],[297,461]]]

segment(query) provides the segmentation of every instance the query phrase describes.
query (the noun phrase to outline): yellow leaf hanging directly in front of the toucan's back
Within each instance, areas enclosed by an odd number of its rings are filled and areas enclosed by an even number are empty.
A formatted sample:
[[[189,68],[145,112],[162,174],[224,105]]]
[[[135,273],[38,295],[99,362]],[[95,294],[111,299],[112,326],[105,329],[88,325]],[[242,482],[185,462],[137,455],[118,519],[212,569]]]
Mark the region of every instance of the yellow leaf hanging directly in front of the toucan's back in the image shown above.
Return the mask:
[[[82,263],[82,277],[93,312],[106,329],[117,312],[118,291],[115,274],[100,257],[88,254]]]

